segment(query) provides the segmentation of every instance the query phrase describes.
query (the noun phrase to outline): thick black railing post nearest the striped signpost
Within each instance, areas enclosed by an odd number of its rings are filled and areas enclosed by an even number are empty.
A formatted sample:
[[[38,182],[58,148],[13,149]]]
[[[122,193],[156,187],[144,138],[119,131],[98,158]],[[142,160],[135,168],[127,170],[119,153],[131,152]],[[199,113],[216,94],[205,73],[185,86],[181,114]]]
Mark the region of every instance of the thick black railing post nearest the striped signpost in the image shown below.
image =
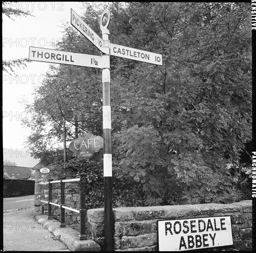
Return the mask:
[[[80,174],[80,235],[78,236],[80,241],[87,240],[86,234],[86,209],[85,209],[85,184],[86,184],[86,174]]]

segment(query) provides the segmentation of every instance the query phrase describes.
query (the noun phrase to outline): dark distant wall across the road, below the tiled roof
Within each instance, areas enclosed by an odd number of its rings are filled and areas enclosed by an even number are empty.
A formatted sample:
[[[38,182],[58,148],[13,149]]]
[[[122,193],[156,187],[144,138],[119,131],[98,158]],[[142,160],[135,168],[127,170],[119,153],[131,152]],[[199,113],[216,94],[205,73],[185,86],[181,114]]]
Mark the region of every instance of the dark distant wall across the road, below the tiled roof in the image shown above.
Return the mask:
[[[5,179],[3,182],[3,197],[18,197],[34,195],[35,181],[23,179]]]

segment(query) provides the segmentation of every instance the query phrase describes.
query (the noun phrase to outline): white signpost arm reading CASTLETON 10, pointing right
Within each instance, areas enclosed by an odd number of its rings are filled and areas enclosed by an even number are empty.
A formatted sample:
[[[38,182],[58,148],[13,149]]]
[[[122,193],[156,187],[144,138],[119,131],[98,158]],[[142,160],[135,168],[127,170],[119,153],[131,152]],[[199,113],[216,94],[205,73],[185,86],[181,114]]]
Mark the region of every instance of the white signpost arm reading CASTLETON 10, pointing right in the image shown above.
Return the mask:
[[[161,66],[163,65],[161,54],[147,52],[128,46],[120,46],[110,43],[110,54],[113,56],[132,59],[135,61],[152,63]]]

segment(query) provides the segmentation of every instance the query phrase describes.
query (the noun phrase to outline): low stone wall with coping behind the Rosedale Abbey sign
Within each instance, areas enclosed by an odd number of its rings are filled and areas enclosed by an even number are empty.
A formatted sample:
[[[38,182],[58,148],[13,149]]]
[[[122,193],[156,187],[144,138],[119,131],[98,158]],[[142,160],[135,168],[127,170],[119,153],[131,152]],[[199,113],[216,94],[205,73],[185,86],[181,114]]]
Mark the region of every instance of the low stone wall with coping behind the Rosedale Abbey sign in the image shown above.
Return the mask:
[[[161,207],[115,208],[115,251],[158,251],[157,221],[231,216],[233,245],[205,250],[252,251],[252,201]],[[104,209],[87,211],[88,237],[104,249]]]

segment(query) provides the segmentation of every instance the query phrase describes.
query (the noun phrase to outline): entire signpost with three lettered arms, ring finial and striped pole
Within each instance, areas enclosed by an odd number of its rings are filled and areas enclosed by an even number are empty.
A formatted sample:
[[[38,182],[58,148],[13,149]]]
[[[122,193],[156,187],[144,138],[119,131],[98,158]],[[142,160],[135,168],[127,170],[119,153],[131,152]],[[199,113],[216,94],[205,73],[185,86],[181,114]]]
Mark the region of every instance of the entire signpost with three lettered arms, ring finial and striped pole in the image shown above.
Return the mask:
[[[105,18],[105,23],[103,19]],[[88,55],[39,47],[29,47],[29,60],[77,65],[102,69],[103,85],[103,174],[104,174],[104,217],[105,250],[114,251],[114,217],[112,210],[112,154],[111,154],[111,99],[110,99],[110,56],[132,59],[140,62],[163,65],[162,55],[127,46],[112,44],[109,40],[110,11],[106,9],[100,17],[102,39],[85,23],[76,12],[70,10],[70,23],[96,46],[103,55]],[[76,143],[77,144],[77,143]],[[74,144],[74,151],[78,153]],[[80,147],[81,148],[81,147]],[[79,148],[79,149],[80,149]],[[82,152],[88,152],[85,150]]]

